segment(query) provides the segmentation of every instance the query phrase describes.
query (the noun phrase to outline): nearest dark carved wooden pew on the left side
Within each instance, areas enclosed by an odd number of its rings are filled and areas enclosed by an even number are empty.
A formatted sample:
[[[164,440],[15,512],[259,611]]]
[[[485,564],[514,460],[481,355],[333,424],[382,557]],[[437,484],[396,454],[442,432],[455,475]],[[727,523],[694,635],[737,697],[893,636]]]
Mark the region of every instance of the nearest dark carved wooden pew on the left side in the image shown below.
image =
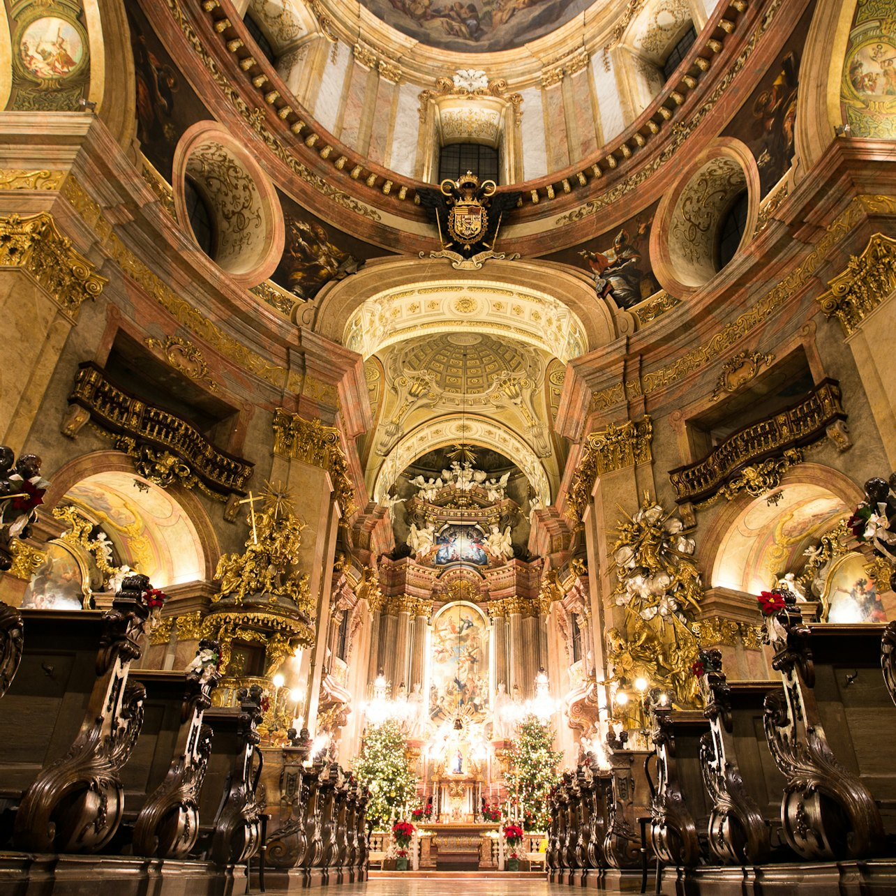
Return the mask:
[[[120,775],[142,725],[143,689],[128,671],[141,655],[149,587],[146,576],[128,577],[107,614],[25,611],[20,674],[0,708],[0,737],[12,746],[0,760],[7,806],[27,788],[15,812],[20,849],[96,852],[116,833]]]

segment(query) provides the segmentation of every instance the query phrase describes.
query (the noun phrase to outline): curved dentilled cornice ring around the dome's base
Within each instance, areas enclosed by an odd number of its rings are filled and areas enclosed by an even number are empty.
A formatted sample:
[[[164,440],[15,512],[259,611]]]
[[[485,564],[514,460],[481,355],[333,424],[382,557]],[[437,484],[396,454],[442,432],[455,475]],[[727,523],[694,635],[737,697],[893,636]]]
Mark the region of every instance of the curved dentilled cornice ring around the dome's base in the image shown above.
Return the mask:
[[[316,194],[315,211],[345,228],[357,229],[377,245],[387,245],[385,231],[395,228],[401,230],[410,251],[429,246],[430,228],[410,202],[418,182],[361,159],[317,125],[289,95],[272,66],[264,59],[254,59],[247,48],[253,45],[245,26],[236,14],[228,14],[233,11],[230,0],[205,0],[204,12],[198,11],[195,20],[185,13],[183,2],[151,4],[153,9],[147,13],[157,25],[167,19],[170,26],[175,23],[172,15],[175,17],[185,48],[202,57],[202,66],[229,95],[228,102],[215,104],[216,114],[231,119],[231,124],[242,119],[242,126],[262,137],[276,156],[276,163],[269,159],[268,164],[271,170],[278,169],[280,183],[288,192],[308,202],[310,187]],[[630,213],[633,204],[641,207],[639,202],[647,204],[656,198],[665,186],[660,183],[663,178],[656,177],[659,169],[682,151],[695,131],[718,131],[734,115],[737,105],[728,101],[733,82],[736,78],[754,82],[762,75],[759,57],[768,54],[754,56],[754,51],[769,43],[763,39],[770,30],[788,33],[788,23],[797,21],[805,5],[782,4],[782,0],[732,0],[720,5],[667,87],[624,134],[602,147],[593,159],[538,181],[513,185],[523,190],[523,208],[517,222],[508,225],[507,235],[515,237],[524,253],[556,251],[590,234],[594,215],[606,216],[602,223],[612,227]],[[165,31],[168,39],[175,39],[170,27]],[[778,42],[771,42],[777,51]],[[222,79],[224,72],[228,77]],[[196,71],[185,73],[191,81],[197,80]],[[256,88],[254,82],[262,86]],[[509,89],[518,86],[514,81]],[[747,95],[749,87],[738,84],[737,96]],[[650,189],[646,189],[649,182]],[[624,197],[625,202],[620,202]],[[353,208],[352,202],[375,210],[378,220]],[[550,249],[539,240],[548,223],[552,229]]]

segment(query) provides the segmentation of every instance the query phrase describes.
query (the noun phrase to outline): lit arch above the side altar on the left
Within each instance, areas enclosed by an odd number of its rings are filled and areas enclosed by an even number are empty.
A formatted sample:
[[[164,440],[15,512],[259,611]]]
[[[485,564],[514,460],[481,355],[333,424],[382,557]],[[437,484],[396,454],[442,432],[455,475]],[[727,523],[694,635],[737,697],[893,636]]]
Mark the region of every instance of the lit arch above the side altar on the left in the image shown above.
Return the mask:
[[[124,562],[134,565],[128,558],[136,560],[156,587],[210,580],[214,574],[220,557],[218,536],[199,498],[185,488],[152,484],[116,451],[84,454],[47,478],[47,508],[65,499],[92,511],[100,521],[108,517],[104,529]],[[141,483],[141,489],[134,483]],[[137,519],[127,519],[128,514]]]

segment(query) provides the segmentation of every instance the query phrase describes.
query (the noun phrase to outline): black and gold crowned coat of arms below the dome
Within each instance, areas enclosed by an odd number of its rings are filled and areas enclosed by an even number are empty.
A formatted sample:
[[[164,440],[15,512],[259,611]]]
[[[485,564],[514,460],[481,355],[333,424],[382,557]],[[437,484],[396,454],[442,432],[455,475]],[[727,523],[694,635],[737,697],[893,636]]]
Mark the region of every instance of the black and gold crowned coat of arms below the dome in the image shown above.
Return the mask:
[[[480,183],[472,171],[456,181],[442,181],[437,193],[418,189],[420,202],[435,219],[442,242],[442,251],[433,257],[451,258],[455,266],[472,268],[481,267],[487,258],[499,257],[493,251],[497,231],[504,212],[515,208],[520,194],[496,192],[494,180]]]

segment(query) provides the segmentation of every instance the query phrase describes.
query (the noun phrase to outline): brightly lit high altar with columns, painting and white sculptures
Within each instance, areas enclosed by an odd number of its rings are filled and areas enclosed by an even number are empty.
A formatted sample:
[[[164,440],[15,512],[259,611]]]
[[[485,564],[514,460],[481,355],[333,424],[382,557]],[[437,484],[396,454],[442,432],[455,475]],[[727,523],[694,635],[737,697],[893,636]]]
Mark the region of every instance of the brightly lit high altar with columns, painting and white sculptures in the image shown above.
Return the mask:
[[[419,794],[432,800],[432,821],[476,823],[483,802],[504,799],[513,709],[530,696],[547,652],[538,563],[519,549],[514,556],[529,521],[508,494],[509,475],[454,461],[440,477],[421,474],[405,486],[409,556],[380,566],[378,666],[397,684],[393,702],[419,757]]]

